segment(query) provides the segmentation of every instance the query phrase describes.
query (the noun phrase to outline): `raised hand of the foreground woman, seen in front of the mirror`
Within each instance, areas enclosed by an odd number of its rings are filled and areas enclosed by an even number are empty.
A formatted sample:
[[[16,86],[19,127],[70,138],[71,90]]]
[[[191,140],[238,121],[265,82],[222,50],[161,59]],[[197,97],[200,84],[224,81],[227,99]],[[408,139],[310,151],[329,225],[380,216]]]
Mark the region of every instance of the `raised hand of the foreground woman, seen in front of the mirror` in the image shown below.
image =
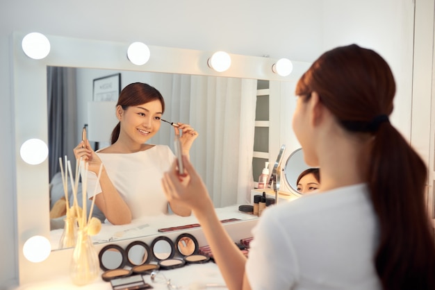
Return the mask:
[[[172,163],[170,171],[163,174],[162,187],[167,201],[188,207],[195,215],[213,210],[207,188],[186,155],[183,155],[183,165],[183,175],[177,170],[177,160]]]

